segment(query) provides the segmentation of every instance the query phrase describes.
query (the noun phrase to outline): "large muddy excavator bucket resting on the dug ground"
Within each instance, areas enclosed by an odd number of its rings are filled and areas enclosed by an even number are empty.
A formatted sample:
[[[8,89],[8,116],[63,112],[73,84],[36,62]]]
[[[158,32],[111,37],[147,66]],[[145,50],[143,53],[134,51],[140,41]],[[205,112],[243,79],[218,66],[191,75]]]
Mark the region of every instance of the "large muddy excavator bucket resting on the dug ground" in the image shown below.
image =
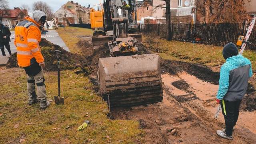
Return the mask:
[[[163,99],[160,58],[156,54],[99,59],[99,90],[110,107],[136,106]]]

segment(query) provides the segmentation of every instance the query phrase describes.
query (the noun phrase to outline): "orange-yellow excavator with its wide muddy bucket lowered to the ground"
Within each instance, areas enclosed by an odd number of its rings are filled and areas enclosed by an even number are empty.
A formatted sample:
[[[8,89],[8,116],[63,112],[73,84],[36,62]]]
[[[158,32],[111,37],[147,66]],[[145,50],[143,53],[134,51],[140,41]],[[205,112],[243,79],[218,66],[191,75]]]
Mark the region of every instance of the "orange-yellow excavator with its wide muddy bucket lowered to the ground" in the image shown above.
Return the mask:
[[[92,7],[90,19],[93,46],[107,43],[110,50],[109,57],[98,62],[100,96],[110,107],[161,102],[160,58],[156,54],[138,55],[136,43],[142,36],[136,34],[135,0],[104,0]]]

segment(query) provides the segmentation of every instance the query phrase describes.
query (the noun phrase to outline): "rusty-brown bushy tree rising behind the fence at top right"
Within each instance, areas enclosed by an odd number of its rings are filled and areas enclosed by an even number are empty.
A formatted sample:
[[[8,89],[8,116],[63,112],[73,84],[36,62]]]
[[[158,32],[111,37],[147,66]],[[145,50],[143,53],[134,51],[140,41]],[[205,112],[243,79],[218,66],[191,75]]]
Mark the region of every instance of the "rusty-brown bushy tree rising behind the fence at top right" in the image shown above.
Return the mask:
[[[197,0],[197,19],[204,23],[238,23],[249,20],[244,8],[245,1],[251,0]]]

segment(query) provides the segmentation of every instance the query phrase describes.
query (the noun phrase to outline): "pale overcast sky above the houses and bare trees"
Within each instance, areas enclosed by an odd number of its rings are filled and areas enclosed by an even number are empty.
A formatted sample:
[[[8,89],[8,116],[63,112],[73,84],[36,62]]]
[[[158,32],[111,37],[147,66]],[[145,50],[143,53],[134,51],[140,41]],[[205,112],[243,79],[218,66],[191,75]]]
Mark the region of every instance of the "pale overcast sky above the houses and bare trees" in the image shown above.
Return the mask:
[[[14,9],[14,7],[20,7],[22,4],[26,4],[32,9],[32,4],[38,1],[46,2],[50,7],[52,7],[54,12],[56,12],[60,8],[60,6],[66,4],[68,1],[71,0],[8,0],[9,8],[11,10]],[[101,1],[103,2],[103,0]],[[78,4],[81,4],[81,6],[85,7],[88,7],[88,5],[90,4],[90,8],[94,4],[100,4],[100,0],[73,0],[73,2],[78,2]]]

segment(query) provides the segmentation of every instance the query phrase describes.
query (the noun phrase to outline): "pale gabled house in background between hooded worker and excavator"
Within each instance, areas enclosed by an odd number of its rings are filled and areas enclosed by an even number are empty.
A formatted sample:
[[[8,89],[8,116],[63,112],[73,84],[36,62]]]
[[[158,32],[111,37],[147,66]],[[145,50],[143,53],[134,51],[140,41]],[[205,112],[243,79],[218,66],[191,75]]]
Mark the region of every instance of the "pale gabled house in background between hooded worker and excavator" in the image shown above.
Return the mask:
[[[68,17],[65,18],[65,13],[68,14]],[[81,6],[78,2],[68,1],[64,4],[58,11],[54,13],[57,23],[64,23],[64,19],[70,20],[70,24],[90,24],[90,8]]]

